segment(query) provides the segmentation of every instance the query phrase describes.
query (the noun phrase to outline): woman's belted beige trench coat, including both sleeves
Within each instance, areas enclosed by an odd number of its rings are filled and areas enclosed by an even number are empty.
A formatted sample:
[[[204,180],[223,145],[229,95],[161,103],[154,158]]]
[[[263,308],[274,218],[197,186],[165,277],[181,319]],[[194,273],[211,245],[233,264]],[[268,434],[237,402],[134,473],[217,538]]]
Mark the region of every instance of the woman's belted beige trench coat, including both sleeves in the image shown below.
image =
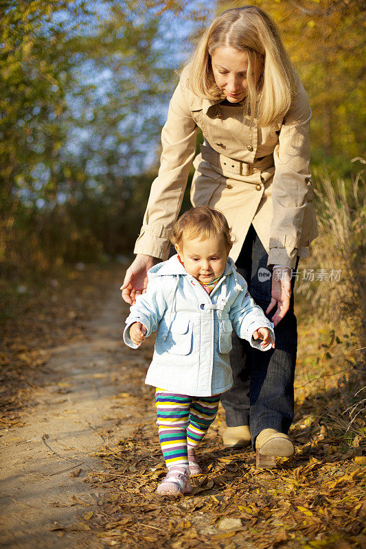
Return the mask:
[[[297,97],[273,126],[250,128],[243,107],[197,97],[187,69],[174,91],[161,132],[159,174],[152,183],[135,253],[166,259],[168,235],[179,211],[201,128],[204,143],[194,159],[192,205],[225,214],[237,242],[236,261],[249,226],[268,253],[268,266],[294,268],[317,236],[310,174],[310,107],[298,80]]]

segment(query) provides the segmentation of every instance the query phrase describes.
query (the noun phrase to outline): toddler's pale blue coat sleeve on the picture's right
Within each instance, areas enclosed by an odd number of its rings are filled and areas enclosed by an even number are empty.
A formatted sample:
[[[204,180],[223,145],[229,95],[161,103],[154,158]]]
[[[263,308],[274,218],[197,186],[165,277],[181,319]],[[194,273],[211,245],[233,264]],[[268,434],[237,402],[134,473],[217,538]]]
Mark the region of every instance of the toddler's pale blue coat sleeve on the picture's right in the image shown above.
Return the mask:
[[[233,327],[241,339],[246,339],[251,344],[251,347],[267,351],[271,348],[268,345],[266,349],[260,347],[260,340],[253,339],[253,333],[258,328],[268,328],[271,331],[273,340],[275,340],[275,332],[273,331],[273,323],[264,315],[262,308],[255,305],[255,302],[247,290],[247,283],[244,278],[238,274],[238,281],[242,287],[242,291],[236,296],[233,304],[230,307],[230,320]]]

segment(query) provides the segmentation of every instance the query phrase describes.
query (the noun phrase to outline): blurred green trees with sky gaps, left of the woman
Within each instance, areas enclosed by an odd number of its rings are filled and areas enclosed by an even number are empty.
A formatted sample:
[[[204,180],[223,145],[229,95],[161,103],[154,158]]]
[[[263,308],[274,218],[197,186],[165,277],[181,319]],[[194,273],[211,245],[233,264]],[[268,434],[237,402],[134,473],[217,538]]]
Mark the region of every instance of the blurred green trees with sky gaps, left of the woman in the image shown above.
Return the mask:
[[[152,180],[141,174],[176,82],[169,43],[159,6],[88,6],[0,3],[5,275],[129,250],[141,222],[138,187]]]

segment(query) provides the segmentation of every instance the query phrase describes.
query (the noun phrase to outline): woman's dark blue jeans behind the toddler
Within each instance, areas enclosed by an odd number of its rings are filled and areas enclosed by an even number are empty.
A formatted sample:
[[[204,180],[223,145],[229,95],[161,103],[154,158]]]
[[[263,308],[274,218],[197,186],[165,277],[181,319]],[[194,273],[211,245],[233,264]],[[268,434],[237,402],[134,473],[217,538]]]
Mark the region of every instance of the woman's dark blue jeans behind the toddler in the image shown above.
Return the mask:
[[[259,278],[258,269],[266,269],[267,259],[266,250],[251,225],[236,267],[247,281],[255,303],[264,311],[271,301],[272,277]],[[292,290],[294,283],[295,278],[291,283]],[[267,315],[270,320],[276,309],[277,305]],[[221,396],[221,402],[225,408],[227,425],[249,425],[253,443],[263,429],[271,428],[287,433],[293,421],[297,351],[293,292],[290,309],[275,327],[275,338],[275,349],[259,351],[233,334],[230,361],[234,383],[231,390]]]

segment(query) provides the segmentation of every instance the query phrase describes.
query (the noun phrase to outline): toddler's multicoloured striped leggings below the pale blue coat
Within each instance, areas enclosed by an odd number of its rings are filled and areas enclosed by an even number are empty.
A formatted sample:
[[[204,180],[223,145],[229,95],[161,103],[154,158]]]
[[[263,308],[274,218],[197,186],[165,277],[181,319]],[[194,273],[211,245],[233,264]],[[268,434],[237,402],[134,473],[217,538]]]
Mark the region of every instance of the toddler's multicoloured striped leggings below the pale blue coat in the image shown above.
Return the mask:
[[[157,388],[157,425],[167,467],[188,465],[188,453],[203,439],[214,421],[220,395],[190,397]]]

